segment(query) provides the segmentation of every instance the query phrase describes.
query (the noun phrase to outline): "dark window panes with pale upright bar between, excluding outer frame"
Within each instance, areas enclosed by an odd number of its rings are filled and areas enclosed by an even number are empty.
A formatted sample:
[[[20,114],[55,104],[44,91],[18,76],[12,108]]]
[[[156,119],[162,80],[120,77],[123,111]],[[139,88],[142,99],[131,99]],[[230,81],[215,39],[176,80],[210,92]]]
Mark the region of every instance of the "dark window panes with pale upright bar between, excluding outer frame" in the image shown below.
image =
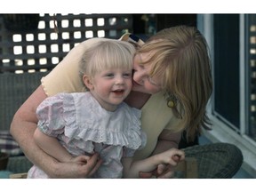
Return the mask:
[[[213,15],[212,114],[256,144],[256,14]]]

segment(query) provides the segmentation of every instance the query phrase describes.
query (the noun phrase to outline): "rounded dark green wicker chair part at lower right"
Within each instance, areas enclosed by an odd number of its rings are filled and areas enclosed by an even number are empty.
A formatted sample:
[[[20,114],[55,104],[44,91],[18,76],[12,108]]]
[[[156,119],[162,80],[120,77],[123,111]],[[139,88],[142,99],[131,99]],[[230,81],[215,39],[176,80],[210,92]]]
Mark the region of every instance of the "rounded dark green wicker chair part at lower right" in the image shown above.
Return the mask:
[[[229,143],[212,143],[184,148],[187,158],[197,163],[199,179],[231,179],[243,164],[239,148]]]

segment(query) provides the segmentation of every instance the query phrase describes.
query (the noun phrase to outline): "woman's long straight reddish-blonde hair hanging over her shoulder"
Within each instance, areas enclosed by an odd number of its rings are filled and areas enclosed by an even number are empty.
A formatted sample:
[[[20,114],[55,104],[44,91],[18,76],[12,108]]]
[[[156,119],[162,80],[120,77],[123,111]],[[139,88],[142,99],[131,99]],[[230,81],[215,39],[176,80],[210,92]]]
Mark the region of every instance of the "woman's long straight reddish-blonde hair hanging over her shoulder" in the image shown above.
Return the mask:
[[[172,109],[182,120],[188,140],[201,127],[210,129],[206,105],[212,95],[212,72],[204,36],[194,27],[165,28],[151,36],[138,53],[150,52],[149,76],[162,77],[163,90],[176,98]]]

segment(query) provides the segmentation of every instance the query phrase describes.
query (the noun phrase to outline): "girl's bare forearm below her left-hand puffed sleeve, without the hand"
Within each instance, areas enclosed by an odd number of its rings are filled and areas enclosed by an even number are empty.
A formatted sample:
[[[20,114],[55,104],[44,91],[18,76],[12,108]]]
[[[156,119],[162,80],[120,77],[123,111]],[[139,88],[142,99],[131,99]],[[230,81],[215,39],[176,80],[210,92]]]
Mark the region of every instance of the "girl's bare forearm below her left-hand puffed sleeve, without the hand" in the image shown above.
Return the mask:
[[[73,158],[56,138],[44,134],[38,128],[34,133],[34,140],[39,148],[60,162],[70,162]]]

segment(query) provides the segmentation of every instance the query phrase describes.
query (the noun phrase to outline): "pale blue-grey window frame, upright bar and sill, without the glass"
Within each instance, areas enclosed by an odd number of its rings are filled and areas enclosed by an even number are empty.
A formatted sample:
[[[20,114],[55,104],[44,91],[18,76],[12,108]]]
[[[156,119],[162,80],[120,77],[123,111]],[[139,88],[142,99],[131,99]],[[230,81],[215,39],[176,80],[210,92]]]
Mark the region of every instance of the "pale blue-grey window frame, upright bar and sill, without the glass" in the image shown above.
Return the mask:
[[[230,124],[225,123],[220,118],[217,118],[212,113],[212,104],[214,103],[214,98],[209,101],[207,112],[212,120],[212,131],[204,131],[203,134],[206,138],[212,142],[228,142],[235,144],[238,148],[242,150],[244,156],[244,164],[242,165],[246,172],[252,174],[256,177],[256,142],[246,135],[246,126],[248,126],[248,121],[246,116],[247,106],[245,92],[246,92],[246,80],[245,80],[245,18],[246,15],[240,14],[240,133],[235,132],[230,128]],[[213,36],[213,14],[198,14],[197,15],[197,27],[204,34],[207,43],[209,44],[209,49],[212,58],[212,72],[213,72],[213,63],[214,63],[214,36]],[[212,74],[214,78],[214,74]],[[214,92],[214,90],[213,90]]]

